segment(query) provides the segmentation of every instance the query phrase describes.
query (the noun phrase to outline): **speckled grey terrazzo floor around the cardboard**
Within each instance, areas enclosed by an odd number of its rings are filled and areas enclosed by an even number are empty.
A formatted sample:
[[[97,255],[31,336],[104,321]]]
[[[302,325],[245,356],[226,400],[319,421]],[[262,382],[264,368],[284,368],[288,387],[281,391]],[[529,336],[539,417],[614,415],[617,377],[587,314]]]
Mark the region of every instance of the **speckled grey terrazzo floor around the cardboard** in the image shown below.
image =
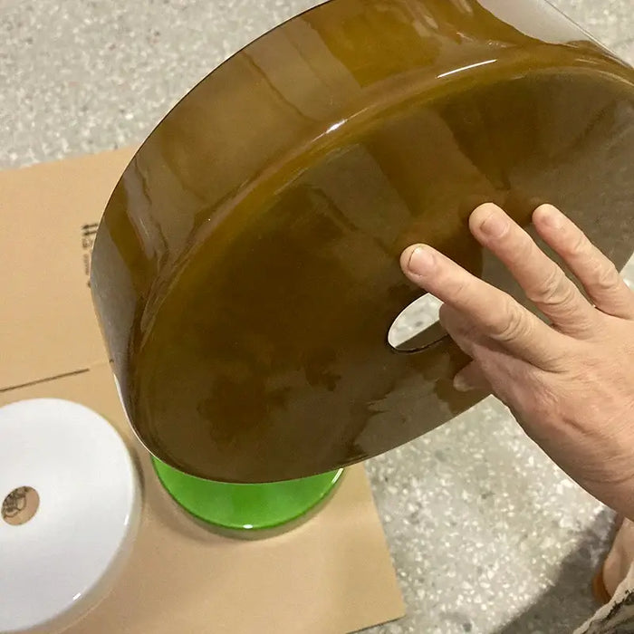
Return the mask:
[[[0,0],[0,168],[139,142],[228,54],[313,4]],[[555,4],[634,61],[632,0]],[[593,609],[610,513],[495,401],[368,470],[408,604],[373,632],[554,634]]]

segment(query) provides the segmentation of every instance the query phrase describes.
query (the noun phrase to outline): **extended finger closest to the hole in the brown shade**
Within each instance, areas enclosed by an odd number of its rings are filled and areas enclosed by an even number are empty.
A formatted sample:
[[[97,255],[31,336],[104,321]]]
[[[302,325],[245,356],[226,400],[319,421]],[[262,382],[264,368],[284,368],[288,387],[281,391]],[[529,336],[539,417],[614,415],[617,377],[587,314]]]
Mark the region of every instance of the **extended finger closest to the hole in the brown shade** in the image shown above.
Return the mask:
[[[486,337],[543,370],[554,369],[564,352],[562,335],[508,294],[428,245],[408,247],[400,264],[412,282],[463,312]]]

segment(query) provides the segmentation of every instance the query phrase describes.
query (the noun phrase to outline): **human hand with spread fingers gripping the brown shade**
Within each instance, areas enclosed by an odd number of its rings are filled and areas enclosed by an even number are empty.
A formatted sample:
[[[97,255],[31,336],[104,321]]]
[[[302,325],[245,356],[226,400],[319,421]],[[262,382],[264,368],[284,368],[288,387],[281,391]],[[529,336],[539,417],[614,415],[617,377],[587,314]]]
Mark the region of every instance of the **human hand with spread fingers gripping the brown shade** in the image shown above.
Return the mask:
[[[469,226],[552,325],[430,246],[408,247],[404,273],[444,303],[442,325],[473,359],[456,389],[493,392],[564,471],[634,519],[634,293],[552,206],[533,226],[592,303],[499,207],[478,207]]]

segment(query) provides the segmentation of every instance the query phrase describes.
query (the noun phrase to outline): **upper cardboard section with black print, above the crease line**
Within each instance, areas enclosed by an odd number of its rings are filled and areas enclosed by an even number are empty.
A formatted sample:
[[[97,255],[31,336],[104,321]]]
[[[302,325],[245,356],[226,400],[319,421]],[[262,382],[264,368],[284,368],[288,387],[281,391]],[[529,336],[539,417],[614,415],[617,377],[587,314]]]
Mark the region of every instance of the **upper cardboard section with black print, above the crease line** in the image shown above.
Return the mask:
[[[0,389],[107,359],[88,285],[91,247],[132,154],[0,172]]]

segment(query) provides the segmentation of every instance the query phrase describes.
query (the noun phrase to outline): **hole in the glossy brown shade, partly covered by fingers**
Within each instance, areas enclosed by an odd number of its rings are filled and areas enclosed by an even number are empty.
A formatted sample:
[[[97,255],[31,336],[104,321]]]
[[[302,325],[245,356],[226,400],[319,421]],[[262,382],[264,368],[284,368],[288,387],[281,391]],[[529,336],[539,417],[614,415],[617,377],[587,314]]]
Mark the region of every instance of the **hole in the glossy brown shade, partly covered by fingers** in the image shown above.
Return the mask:
[[[438,322],[441,305],[429,293],[410,303],[389,327],[389,345],[399,352],[418,352],[444,339],[447,332]]]

